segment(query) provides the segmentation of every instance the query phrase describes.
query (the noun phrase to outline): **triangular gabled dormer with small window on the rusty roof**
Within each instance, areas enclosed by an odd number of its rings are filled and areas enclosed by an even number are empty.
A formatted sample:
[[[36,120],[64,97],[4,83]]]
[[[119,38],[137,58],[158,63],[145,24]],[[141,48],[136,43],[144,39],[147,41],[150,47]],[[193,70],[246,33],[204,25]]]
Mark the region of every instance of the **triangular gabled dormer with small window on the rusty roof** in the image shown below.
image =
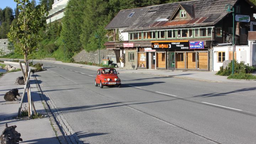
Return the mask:
[[[191,20],[194,18],[193,5],[179,4],[172,14],[169,21],[172,20]]]

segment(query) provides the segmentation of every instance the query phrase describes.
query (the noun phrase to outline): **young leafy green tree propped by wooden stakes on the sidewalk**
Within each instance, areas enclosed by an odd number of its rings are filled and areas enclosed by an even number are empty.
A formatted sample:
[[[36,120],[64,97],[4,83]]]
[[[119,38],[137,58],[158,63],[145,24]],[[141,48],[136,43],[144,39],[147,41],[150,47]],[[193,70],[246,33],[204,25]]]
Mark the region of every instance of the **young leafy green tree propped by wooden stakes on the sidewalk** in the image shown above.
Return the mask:
[[[18,4],[20,14],[17,18],[17,25],[11,25],[8,33],[10,42],[19,54],[24,55],[26,62],[26,77],[28,75],[28,56],[31,55],[37,46],[40,37],[38,31],[45,26],[46,8],[37,5],[34,9],[29,0],[15,0]]]

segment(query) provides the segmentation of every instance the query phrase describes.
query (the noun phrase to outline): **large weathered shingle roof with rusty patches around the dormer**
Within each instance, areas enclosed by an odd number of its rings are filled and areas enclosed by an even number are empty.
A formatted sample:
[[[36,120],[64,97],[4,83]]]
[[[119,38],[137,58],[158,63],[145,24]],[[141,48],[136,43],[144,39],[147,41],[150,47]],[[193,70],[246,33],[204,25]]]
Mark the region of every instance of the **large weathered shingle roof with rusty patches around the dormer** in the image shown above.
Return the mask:
[[[124,31],[213,26],[228,15],[225,11],[225,6],[227,4],[235,5],[237,1],[238,0],[191,0],[144,7],[143,13]],[[184,21],[158,21],[160,18],[169,19],[179,5],[190,15],[193,14],[192,10],[194,6],[195,17],[192,20]]]

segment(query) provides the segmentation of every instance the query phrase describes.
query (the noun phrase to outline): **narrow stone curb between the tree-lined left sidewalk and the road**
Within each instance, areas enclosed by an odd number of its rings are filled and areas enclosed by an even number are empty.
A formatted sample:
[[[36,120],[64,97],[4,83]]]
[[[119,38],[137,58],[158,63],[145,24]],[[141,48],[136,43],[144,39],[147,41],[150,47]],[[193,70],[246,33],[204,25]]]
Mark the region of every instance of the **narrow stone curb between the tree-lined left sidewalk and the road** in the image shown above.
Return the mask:
[[[37,78],[35,76],[33,76],[33,77],[34,77],[34,80],[36,81],[36,86],[37,86],[39,95],[41,97],[41,100],[43,102],[44,109],[46,110],[46,113],[49,116],[50,123],[52,125],[53,131],[55,132],[55,135],[56,135],[57,139],[59,140],[59,142],[61,144],[68,144],[68,142],[64,138],[64,135],[62,134],[57,122],[55,121],[55,119],[53,117],[53,114],[50,111],[48,103],[45,101],[45,97],[43,96],[43,92],[41,90],[41,87],[38,85]]]

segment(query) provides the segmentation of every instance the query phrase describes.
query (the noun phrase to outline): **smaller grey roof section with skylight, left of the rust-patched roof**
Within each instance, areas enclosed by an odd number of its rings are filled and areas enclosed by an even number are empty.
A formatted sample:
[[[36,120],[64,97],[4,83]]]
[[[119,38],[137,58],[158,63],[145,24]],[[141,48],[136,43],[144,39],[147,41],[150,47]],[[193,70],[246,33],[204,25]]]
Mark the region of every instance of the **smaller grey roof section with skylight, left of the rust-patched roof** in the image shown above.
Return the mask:
[[[108,23],[108,25],[105,28],[113,29],[113,28],[129,27],[145,11],[144,9],[145,7],[121,10],[112,19],[112,21]],[[134,15],[132,17],[128,17],[131,12],[134,12]]]

